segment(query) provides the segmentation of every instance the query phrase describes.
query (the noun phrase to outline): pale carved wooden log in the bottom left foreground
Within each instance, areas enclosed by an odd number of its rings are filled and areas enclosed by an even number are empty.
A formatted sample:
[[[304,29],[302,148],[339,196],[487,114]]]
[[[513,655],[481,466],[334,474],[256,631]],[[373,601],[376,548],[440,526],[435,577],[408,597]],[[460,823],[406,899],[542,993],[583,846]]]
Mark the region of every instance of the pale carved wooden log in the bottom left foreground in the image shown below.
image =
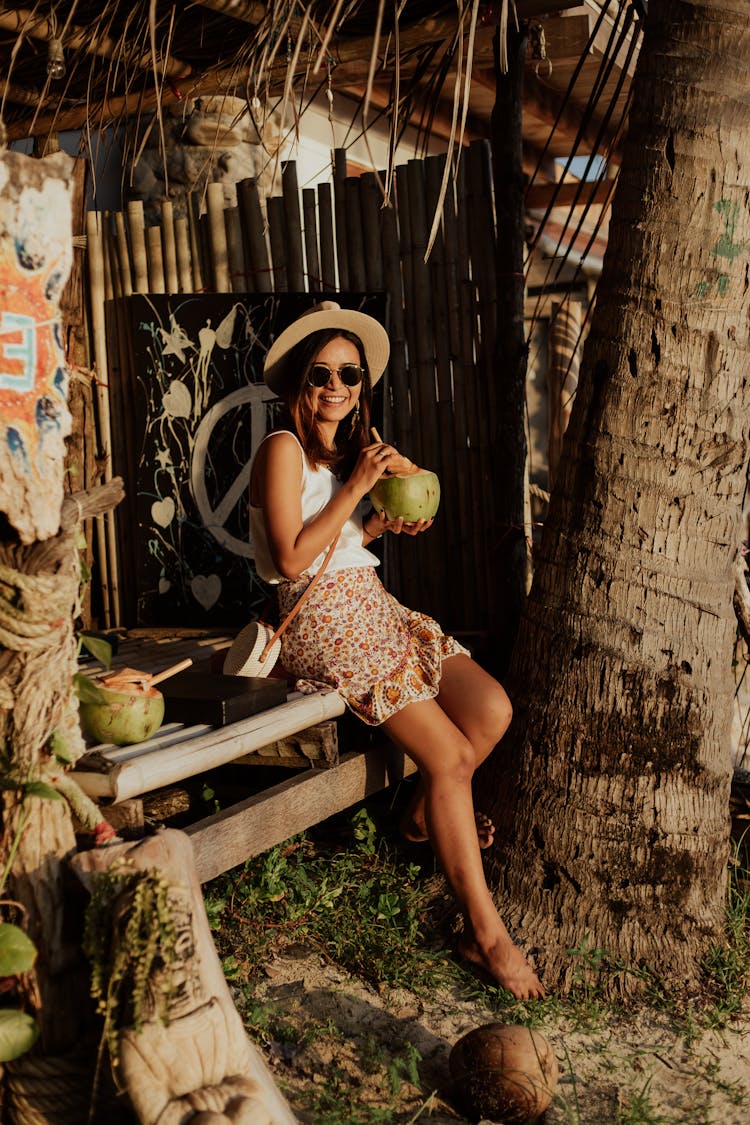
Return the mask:
[[[142,1028],[123,1032],[117,1078],[143,1125],[177,1125],[189,1116],[252,1125],[293,1125],[295,1117],[245,1034],[211,939],[189,838],[174,829],[137,844],[97,848],[73,857],[89,886],[125,860],[159,871],[169,882],[178,934],[177,988],[169,1024],[144,1014]],[[120,909],[120,903],[116,910]],[[124,903],[121,909],[127,909]],[[154,981],[156,989],[159,981]],[[154,990],[155,991],[155,990]],[[208,1115],[211,1115],[210,1117]],[[202,1119],[202,1117],[201,1117]]]

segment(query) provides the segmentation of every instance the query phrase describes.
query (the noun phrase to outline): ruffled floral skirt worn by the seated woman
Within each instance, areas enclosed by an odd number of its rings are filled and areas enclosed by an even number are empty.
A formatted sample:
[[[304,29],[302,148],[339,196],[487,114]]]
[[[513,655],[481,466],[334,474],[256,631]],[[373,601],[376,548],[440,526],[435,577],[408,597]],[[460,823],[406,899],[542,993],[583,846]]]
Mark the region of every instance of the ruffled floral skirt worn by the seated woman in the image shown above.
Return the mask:
[[[282,616],[309,582],[281,583]],[[432,618],[397,602],[370,566],[325,575],[281,640],[281,663],[300,691],[335,687],[370,726],[434,699],[443,660],[459,652],[469,655]]]

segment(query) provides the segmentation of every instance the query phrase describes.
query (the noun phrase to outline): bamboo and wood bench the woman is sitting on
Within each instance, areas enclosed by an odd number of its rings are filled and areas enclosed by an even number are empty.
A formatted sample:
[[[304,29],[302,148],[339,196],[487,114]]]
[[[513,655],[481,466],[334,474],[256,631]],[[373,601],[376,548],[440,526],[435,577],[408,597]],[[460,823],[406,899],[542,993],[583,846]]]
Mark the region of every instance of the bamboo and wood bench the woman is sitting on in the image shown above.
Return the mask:
[[[184,630],[134,630],[120,642],[112,668],[135,667],[156,673],[190,657],[207,666],[232,638]],[[345,711],[337,692],[302,695],[290,691],[286,703],[225,727],[170,722],[154,738],[135,746],[92,747],[76,764],[74,776],[90,796],[102,804],[118,804],[218,766],[304,731]],[[201,882],[253,855],[281,844],[297,832],[355,804],[401,777],[414,773],[413,763],[383,736],[347,749],[328,766],[322,760],[279,784],[189,825]],[[272,759],[271,759],[272,760]]]

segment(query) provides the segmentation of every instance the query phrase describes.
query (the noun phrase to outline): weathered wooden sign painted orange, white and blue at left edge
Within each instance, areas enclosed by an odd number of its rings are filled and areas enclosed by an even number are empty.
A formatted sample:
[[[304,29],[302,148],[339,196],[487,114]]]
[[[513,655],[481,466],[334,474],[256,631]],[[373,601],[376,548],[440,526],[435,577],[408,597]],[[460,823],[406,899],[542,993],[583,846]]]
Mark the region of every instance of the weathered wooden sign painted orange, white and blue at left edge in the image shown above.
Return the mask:
[[[60,529],[67,368],[58,302],[72,264],[74,161],[0,152],[0,511],[24,543]]]

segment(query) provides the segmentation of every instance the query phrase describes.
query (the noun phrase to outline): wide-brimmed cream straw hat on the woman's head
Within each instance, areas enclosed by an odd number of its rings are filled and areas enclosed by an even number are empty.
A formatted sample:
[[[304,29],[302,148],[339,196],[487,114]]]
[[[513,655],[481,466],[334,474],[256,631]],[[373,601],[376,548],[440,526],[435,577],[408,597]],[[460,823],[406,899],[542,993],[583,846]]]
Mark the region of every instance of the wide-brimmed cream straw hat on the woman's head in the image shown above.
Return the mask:
[[[390,352],[390,341],[382,324],[367,313],[342,308],[335,300],[322,300],[292,321],[269,348],[263,366],[263,378],[274,394],[278,395],[283,389],[287,360],[291,349],[300,340],[322,328],[341,328],[342,332],[353,332],[360,338],[370,371],[370,382],[372,386],[376,385],[386,370]]]

